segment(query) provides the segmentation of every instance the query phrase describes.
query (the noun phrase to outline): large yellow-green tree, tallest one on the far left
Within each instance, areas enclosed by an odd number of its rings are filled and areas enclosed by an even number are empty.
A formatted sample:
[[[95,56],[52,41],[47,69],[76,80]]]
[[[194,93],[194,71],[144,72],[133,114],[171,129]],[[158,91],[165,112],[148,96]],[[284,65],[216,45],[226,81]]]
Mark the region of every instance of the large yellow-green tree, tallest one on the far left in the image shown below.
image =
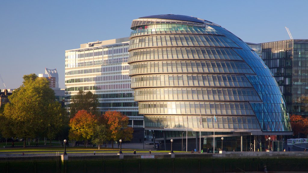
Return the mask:
[[[52,108],[49,104],[54,102],[55,93],[46,78],[29,74],[23,79],[22,85],[9,96],[10,103],[4,106],[4,117],[9,125],[7,128],[15,137],[26,139],[45,131],[47,110]],[[26,140],[23,146],[26,147]]]

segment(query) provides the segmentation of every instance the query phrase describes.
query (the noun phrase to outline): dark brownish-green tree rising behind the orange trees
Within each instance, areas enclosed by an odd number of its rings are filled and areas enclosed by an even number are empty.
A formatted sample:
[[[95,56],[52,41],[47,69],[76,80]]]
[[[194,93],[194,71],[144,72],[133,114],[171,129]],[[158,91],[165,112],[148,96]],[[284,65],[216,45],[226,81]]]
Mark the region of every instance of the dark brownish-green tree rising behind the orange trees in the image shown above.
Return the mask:
[[[71,116],[74,116],[78,111],[85,110],[91,112],[92,115],[99,115],[98,99],[91,91],[84,92],[80,90],[77,95],[72,96],[70,107]]]

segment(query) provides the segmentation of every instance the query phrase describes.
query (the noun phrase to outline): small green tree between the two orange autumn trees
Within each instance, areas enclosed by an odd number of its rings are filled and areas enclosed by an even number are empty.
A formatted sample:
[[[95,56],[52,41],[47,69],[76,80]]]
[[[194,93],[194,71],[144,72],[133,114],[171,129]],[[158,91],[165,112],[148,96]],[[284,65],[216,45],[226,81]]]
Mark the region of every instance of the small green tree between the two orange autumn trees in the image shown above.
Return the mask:
[[[95,143],[98,146],[98,149],[100,149],[100,145],[102,145],[104,142],[108,139],[108,129],[106,125],[96,125],[94,127],[94,135],[92,138],[92,143]]]

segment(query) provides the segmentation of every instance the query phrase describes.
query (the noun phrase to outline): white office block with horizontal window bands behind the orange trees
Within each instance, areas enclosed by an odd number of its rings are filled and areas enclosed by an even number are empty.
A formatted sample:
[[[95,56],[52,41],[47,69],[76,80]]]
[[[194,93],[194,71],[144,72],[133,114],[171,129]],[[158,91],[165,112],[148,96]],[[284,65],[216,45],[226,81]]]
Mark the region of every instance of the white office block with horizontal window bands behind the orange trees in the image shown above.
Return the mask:
[[[138,113],[131,78],[128,76],[129,38],[81,44],[65,51],[65,103],[79,90],[91,91],[99,100],[99,111],[119,111],[129,117],[129,126],[144,127]],[[136,131],[136,129],[135,129]],[[141,137],[143,139],[143,130]],[[139,142],[139,138],[137,140]]]

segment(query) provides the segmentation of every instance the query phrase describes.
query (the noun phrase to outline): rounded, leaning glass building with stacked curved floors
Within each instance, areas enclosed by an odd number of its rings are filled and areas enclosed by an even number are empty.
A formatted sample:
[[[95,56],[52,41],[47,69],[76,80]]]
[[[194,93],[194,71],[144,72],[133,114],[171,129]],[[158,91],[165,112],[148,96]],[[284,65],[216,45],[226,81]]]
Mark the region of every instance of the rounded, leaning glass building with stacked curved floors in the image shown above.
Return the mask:
[[[188,151],[199,149],[199,137],[210,150],[224,142],[229,151],[262,151],[269,146],[265,135],[279,140],[292,134],[269,68],[259,52],[228,30],[172,14],[135,19],[131,29],[131,88],[145,129],[154,132],[161,149],[170,148],[170,139],[175,150],[183,149],[187,135]]]

